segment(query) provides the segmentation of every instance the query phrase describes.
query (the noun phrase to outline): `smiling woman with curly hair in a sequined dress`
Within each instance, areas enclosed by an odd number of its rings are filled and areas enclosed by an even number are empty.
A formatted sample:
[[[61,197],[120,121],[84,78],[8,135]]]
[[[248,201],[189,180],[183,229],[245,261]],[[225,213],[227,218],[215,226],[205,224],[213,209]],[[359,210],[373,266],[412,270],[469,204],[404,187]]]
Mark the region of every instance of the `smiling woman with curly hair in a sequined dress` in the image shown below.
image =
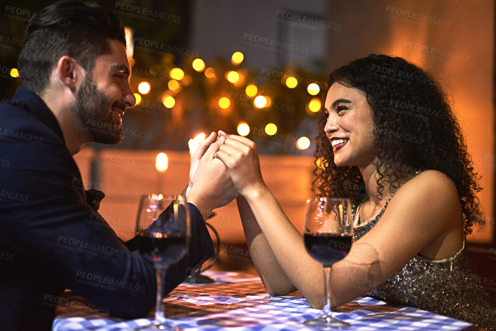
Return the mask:
[[[496,329],[465,242],[473,225],[484,226],[481,188],[440,84],[401,58],[372,54],[332,72],[328,86],[314,193],[359,205],[350,254],[332,268],[333,305],[367,294]],[[243,226],[251,255],[265,257],[253,263],[267,291],[299,290],[322,307],[322,265],[306,253],[259,167],[243,166],[258,159],[255,143],[220,134],[226,139],[215,157],[240,193],[241,218],[256,219],[258,226]]]

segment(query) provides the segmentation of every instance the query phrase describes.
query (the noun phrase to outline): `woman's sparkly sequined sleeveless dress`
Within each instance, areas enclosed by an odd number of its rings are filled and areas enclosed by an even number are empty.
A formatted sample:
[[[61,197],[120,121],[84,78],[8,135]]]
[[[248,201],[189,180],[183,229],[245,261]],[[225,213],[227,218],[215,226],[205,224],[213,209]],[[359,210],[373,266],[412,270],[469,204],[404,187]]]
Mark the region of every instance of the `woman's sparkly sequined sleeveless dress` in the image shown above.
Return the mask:
[[[372,220],[355,225],[353,241],[374,227],[391,198]],[[358,210],[356,214],[355,224],[359,222]],[[417,255],[366,295],[496,330],[496,314],[474,274],[465,238],[453,257],[432,261]]]

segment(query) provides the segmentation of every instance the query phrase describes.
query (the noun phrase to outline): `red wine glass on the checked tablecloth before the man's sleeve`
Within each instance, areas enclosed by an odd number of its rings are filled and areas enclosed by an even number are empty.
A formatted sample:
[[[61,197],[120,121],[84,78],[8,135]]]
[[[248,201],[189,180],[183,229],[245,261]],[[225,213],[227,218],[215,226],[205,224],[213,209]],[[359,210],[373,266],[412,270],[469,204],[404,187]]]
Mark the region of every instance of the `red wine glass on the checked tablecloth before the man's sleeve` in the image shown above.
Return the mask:
[[[190,214],[182,196],[142,196],[136,219],[139,251],[149,259],[157,275],[157,304],[153,324],[139,330],[181,330],[169,326],[164,316],[164,280],[169,265],[184,258],[189,247]]]

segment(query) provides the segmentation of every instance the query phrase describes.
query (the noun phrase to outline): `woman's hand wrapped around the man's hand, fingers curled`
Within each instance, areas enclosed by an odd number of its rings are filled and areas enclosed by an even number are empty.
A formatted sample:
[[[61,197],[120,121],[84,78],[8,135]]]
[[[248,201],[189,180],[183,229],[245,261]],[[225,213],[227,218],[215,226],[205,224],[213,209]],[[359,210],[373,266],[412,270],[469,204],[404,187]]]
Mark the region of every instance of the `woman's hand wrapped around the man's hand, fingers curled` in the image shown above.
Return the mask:
[[[250,139],[219,131],[226,138],[214,154],[229,169],[231,179],[238,192],[249,199],[250,195],[257,196],[258,191],[265,188],[260,161],[256,152],[256,144]]]

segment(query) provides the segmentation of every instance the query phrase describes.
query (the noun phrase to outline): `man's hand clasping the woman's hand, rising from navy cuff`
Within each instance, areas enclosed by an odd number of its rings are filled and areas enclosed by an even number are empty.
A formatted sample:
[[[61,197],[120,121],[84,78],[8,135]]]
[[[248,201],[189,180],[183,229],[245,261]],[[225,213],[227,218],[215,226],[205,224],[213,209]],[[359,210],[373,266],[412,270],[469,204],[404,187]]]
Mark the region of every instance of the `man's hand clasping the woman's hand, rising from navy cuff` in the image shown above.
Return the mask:
[[[190,176],[193,175],[194,184],[187,193],[187,201],[198,208],[205,220],[212,213],[212,209],[225,206],[239,195],[227,167],[222,161],[214,158],[214,153],[225,141],[225,138],[220,136],[219,140],[213,142],[215,137],[215,132],[212,132],[202,141],[191,158]]]

